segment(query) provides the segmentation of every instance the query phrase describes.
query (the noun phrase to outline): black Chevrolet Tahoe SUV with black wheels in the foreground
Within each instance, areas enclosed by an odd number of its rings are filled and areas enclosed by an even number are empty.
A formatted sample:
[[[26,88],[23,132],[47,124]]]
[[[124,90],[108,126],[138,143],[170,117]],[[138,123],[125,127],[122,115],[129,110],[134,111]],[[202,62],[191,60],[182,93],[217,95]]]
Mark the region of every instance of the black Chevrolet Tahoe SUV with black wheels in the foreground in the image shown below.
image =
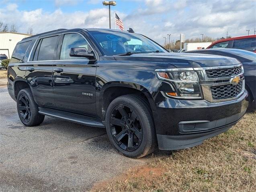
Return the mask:
[[[169,53],[149,38],[108,29],[59,29],[18,42],[8,91],[26,126],[45,115],[106,128],[138,158],[201,144],[227,131],[248,102],[235,58]]]

